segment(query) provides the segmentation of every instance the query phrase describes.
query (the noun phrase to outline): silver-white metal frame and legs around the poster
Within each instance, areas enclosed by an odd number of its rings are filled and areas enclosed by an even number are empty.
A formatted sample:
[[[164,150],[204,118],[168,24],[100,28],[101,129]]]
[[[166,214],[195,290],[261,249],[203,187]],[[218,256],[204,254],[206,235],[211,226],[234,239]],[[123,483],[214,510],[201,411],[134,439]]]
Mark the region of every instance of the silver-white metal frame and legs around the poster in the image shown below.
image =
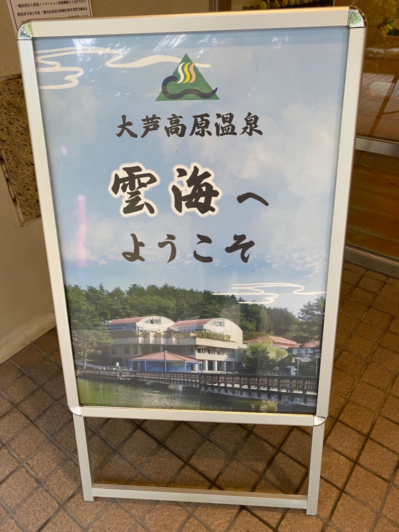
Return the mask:
[[[198,31],[229,31],[276,28],[347,27],[348,51],[342,120],[340,124],[338,165],[332,217],[329,253],[326,310],[323,327],[322,357],[320,363],[317,410],[310,414],[209,412],[167,409],[116,408],[81,406],[79,404],[76,373],[73,364],[71,335],[66,308],[59,238],[49,173],[48,152],[40,106],[33,40],[40,37],[79,37],[126,34],[170,34]],[[329,408],[332,363],[336,321],[338,314],[340,272],[342,269],[347,204],[355,140],[356,113],[362,75],[362,57],[365,42],[365,20],[354,7],[303,10],[273,10],[270,12],[209,13],[120,19],[35,20],[24,24],[18,32],[22,77],[26,93],[29,127],[38,181],[41,215],[46,240],[49,272],[60,340],[66,398],[73,414],[84,498],[115,496],[159,500],[252,504],[304,508],[307,513],[317,510],[319,476],[324,425]],[[262,423],[312,427],[309,483],[306,496],[275,495],[242,492],[215,492],[213,490],[154,488],[143,486],[114,486],[94,484],[86,435],[86,417],[167,419],[186,421],[213,421],[232,423]]]

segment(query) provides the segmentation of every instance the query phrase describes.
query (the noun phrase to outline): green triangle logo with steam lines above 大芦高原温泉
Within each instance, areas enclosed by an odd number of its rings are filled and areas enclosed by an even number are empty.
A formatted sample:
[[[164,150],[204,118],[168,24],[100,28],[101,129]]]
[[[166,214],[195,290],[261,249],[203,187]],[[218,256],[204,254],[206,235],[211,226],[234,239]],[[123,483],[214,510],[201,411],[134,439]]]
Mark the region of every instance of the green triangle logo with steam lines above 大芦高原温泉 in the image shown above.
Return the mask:
[[[186,54],[171,76],[162,81],[162,90],[156,102],[219,99],[218,87],[212,89],[195,63]]]

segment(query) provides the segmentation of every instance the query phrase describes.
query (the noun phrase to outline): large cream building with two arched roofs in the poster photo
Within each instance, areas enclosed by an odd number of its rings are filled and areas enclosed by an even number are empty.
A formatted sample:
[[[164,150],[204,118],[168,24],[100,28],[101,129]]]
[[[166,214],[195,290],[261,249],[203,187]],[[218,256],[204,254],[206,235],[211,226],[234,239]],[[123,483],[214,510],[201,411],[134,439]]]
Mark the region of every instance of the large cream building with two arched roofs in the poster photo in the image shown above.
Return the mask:
[[[246,345],[236,323],[222,318],[173,322],[162,316],[126,318],[105,323],[113,344],[112,363],[167,351],[201,361],[201,371],[238,371]],[[198,366],[199,367],[199,366]]]

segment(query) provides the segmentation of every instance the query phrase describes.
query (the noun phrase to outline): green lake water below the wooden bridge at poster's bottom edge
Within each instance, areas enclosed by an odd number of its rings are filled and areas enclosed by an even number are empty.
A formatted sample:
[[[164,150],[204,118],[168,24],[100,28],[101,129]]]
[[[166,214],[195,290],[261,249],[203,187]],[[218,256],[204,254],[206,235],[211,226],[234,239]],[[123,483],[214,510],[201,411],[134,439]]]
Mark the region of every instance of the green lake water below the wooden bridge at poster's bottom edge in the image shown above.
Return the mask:
[[[104,383],[82,378],[78,378],[77,383],[80,404],[87,406],[277,412],[276,401],[200,392],[197,388],[183,388],[179,391],[165,385]]]

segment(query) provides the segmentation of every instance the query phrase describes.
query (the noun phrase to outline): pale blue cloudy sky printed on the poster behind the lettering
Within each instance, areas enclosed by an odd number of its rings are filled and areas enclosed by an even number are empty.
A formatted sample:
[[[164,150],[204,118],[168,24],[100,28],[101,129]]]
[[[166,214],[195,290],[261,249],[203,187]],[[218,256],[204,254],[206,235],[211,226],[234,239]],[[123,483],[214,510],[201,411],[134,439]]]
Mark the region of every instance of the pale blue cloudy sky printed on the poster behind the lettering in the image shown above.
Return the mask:
[[[109,289],[167,282],[237,294],[245,291],[240,285],[268,285],[244,297],[294,312],[323,292],[347,39],[347,28],[35,39],[65,282]],[[219,100],[156,101],[185,54],[218,87]],[[175,62],[135,63],[155,55]],[[259,117],[262,136],[240,135],[248,112]],[[164,131],[172,113],[187,126],[183,138]],[[189,135],[201,113],[210,114],[212,136]],[[237,136],[215,135],[216,113],[234,114]],[[117,137],[123,114],[138,138]],[[160,129],[140,138],[142,119],[152,114],[161,117]],[[194,162],[211,169],[222,190],[216,215],[171,209],[173,167]],[[156,217],[122,217],[122,197],[109,192],[113,172],[131,163],[160,178],[144,189]],[[269,206],[239,204],[246,192]],[[133,251],[132,233],[145,243],[144,262],[122,256]],[[157,245],[167,233],[176,236],[170,263],[169,246]],[[197,234],[212,244],[197,244]],[[239,252],[225,251],[234,234],[255,243],[246,264]],[[213,262],[198,262],[194,250]],[[273,284],[302,286],[306,294]]]

